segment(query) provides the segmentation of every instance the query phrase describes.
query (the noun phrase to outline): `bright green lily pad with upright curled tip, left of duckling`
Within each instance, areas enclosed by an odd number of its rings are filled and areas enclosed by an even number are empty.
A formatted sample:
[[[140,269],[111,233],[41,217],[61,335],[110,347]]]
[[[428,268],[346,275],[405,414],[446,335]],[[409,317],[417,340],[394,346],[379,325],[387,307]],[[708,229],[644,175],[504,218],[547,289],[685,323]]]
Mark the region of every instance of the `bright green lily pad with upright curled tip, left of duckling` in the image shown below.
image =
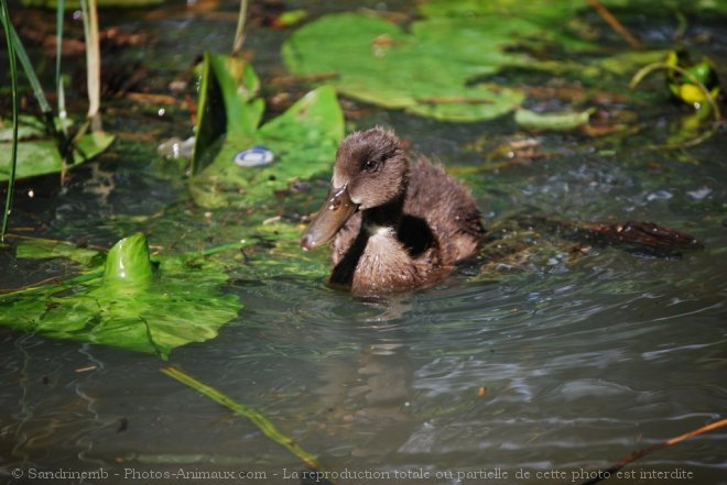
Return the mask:
[[[18,252],[46,257],[48,250],[58,253],[47,241],[30,240]],[[67,245],[59,252],[90,261],[88,250]],[[237,297],[220,291],[227,278],[220,263],[204,257],[165,256],[152,263],[147,238],[138,233],[109,251],[104,271],[1,296],[0,324],[166,360],[177,346],[214,339],[237,316],[242,307]]]

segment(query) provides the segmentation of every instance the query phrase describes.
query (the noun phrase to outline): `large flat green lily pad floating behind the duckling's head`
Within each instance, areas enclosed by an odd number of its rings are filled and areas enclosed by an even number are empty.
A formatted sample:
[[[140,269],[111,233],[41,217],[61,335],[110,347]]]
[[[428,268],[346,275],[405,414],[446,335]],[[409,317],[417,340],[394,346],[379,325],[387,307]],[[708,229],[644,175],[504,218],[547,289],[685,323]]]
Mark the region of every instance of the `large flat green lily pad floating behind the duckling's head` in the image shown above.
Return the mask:
[[[283,59],[297,75],[336,73],[332,85],[362,101],[440,120],[476,121],[522,102],[518,89],[471,82],[531,63],[509,47],[517,38],[539,35],[544,35],[540,26],[520,19],[430,19],[414,22],[406,33],[383,19],[343,13],[295,32],[283,45]]]

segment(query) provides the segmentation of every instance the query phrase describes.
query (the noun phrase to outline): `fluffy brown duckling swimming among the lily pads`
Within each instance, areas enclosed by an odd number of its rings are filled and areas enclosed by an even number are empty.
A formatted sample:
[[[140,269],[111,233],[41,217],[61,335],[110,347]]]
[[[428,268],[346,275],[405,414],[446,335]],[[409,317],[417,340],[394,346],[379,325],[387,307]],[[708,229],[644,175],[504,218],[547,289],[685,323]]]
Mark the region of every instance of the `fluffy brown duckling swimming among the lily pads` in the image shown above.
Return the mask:
[[[329,284],[381,295],[441,282],[485,235],[469,191],[423,156],[410,163],[397,134],[376,126],[340,142],[328,195],[301,246],[332,243]]]

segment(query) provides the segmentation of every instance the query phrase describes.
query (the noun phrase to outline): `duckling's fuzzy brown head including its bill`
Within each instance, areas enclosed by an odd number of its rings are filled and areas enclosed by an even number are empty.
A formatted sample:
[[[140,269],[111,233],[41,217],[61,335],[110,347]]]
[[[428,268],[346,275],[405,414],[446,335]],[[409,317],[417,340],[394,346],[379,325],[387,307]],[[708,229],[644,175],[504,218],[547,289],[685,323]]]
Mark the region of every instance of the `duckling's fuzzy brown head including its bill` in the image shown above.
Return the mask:
[[[338,146],[328,196],[301,246],[312,250],[328,243],[359,210],[403,203],[408,185],[409,163],[393,132],[373,128],[351,133]]]

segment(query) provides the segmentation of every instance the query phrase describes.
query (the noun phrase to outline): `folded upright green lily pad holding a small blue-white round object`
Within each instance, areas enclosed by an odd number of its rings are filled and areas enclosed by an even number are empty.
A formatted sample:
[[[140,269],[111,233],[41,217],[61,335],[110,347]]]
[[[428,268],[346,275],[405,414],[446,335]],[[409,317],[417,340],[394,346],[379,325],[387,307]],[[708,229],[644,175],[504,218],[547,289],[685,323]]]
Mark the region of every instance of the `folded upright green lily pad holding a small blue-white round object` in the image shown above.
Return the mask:
[[[205,63],[200,95],[204,115],[197,132],[207,134],[195,146],[197,163],[189,180],[199,206],[267,205],[293,181],[330,169],[344,135],[344,117],[333,88],[308,92],[283,114],[259,126],[263,103],[257,98],[252,68],[247,63],[241,65],[243,60],[220,55],[207,55]],[[224,130],[219,128],[221,119]],[[216,139],[221,145],[218,151]],[[256,167],[235,163],[240,151],[258,145],[270,150],[274,162]],[[209,157],[210,152],[214,157]],[[208,158],[211,161],[205,164]]]

